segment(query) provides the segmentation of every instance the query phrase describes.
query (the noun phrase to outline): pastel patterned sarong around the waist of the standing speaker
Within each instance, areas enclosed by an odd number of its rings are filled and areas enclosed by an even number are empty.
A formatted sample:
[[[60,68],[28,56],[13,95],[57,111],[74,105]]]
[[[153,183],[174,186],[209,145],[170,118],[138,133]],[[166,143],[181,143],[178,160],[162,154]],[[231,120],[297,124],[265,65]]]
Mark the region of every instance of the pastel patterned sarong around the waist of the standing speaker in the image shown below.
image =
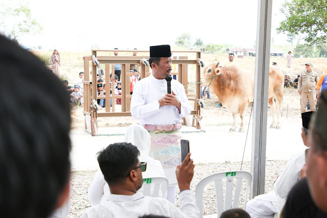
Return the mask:
[[[181,164],[181,123],[175,125],[144,125],[151,136],[149,156],[159,160],[164,168],[165,176],[171,184],[177,184],[176,166]]]

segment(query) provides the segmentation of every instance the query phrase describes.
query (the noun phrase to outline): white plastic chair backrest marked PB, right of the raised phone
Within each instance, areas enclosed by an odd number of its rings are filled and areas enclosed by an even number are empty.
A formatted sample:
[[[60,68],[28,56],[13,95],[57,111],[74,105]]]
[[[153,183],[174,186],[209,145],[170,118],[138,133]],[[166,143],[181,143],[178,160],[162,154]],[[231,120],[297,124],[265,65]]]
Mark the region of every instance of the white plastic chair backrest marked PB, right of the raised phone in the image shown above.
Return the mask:
[[[234,192],[234,200],[232,204],[234,178],[235,179],[237,178],[237,180],[236,180],[236,186]],[[224,195],[223,195],[223,182],[222,182],[223,179],[226,179],[226,194],[225,194],[224,209],[223,209]],[[224,210],[237,208],[239,197],[241,196],[243,179],[247,181],[245,206],[244,206],[245,209],[246,202],[248,200],[248,192],[252,182],[252,175],[250,172],[246,172],[246,171],[220,172],[202,179],[198,183],[197,188],[195,188],[195,201],[197,203],[197,207],[200,209],[200,217],[201,218],[203,217],[203,190],[207,184],[214,182],[215,189],[216,189],[216,200],[217,200],[217,217],[220,217],[220,215]]]

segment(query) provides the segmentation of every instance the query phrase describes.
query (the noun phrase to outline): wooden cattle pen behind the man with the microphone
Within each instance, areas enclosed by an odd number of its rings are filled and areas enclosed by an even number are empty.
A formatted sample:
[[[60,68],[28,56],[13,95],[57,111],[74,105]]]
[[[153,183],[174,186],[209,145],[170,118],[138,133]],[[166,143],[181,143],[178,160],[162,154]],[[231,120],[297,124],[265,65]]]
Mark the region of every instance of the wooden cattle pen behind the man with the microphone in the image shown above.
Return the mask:
[[[85,130],[91,130],[92,136],[97,134],[97,119],[98,117],[123,117],[123,116],[132,116],[130,114],[130,84],[129,77],[132,75],[140,75],[143,79],[150,75],[150,68],[146,66],[146,62],[142,61],[142,58],[145,58],[148,61],[149,56],[100,56],[99,53],[108,53],[108,52],[135,52],[135,50],[92,50],[91,56],[84,56],[84,120],[85,120]],[[149,54],[149,51],[139,51],[138,53]],[[185,87],[185,92],[188,97],[188,100],[194,102],[194,108],[191,111],[192,122],[190,122],[188,117],[183,118],[183,125],[193,126],[197,129],[201,129],[201,111],[200,111],[200,70],[201,66],[203,67],[203,62],[201,60],[201,51],[172,51],[172,54],[177,53],[191,53],[195,54],[195,58],[188,59],[188,56],[173,56],[172,64],[177,64],[177,72],[171,73],[171,75],[178,75],[178,81],[181,82]],[[121,95],[115,95],[115,85],[106,85],[106,90],[110,88],[112,91],[111,95],[97,96],[97,66],[93,61],[92,56],[96,57],[99,64],[104,64],[104,79],[109,84],[109,81],[114,81],[115,78],[115,64],[121,64],[121,76],[120,82],[122,85]],[[144,59],[143,59],[144,60]],[[92,62],[92,78],[90,78],[90,61]],[[130,65],[137,64],[139,66],[138,73],[130,73]],[[188,94],[188,65],[195,65],[196,81],[195,81],[195,94]],[[111,78],[110,78],[111,75]],[[93,85],[94,84],[94,85]],[[114,84],[114,82],[113,82]],[[94,95],[95,93],[95,95]],[[110,93],[110,92],[107,92]],[[106,107],[105,111],[97,111],[93,105],[94,100],[105,99]],[[110,106],[110,99],[112,100],[112,107]],[[115,102],[116,99],[121,99],[121,112],[115,112]]]

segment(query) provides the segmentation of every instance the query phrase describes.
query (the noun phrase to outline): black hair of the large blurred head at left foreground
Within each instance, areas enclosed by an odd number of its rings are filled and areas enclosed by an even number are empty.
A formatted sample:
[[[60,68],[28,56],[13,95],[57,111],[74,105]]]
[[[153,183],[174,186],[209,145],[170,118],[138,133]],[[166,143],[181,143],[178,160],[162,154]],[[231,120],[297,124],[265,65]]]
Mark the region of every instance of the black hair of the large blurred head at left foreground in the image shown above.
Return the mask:
[[[70,97],[32,53],[0,36],[0,211],[48,217],[69,182]],[[20,89],[9,92],[15,81]]]

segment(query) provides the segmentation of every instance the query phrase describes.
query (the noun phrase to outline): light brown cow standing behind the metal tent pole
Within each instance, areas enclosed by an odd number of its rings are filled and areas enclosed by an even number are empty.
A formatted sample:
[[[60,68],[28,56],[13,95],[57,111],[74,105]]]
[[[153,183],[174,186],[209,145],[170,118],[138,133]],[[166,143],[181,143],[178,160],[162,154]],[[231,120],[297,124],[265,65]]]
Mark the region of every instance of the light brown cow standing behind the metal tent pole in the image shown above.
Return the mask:
[[[254,98],[254,72],[235,65],[228,68],[218,66],[219,62],[212,63],[204,69],[201,75],[202,83],[209,85],[210,92],[216,94],[223,106],[233,113],[234,123],[230,131],[235,131],[236,119],[239,115],[242,120],[239,132],[243,132],[245,111]],[[270,128],[280,128],[279,119],[283,95],[283,74],[276,68],[270,68],[268,102],[273,114]],[[276,107],[277,124],[275,124]]]

